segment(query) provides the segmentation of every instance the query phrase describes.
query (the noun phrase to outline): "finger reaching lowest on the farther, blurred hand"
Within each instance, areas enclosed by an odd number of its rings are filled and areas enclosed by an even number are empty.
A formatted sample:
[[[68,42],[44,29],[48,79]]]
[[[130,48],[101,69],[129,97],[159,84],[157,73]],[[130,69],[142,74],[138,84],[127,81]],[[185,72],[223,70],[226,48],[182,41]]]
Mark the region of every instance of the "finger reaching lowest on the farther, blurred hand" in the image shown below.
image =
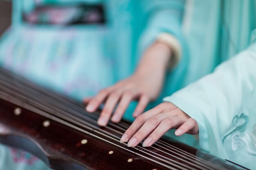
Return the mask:
[[[100,126],[106,126],[108,123],[108,120],[110,119],[110,116],[115,109],[115,106],[117,105],[117,102],[121,96],[121,93],[114,92],[112,93],[107,101],[106,104],[101,112],[101,115],[98,119],[98,124]]]

